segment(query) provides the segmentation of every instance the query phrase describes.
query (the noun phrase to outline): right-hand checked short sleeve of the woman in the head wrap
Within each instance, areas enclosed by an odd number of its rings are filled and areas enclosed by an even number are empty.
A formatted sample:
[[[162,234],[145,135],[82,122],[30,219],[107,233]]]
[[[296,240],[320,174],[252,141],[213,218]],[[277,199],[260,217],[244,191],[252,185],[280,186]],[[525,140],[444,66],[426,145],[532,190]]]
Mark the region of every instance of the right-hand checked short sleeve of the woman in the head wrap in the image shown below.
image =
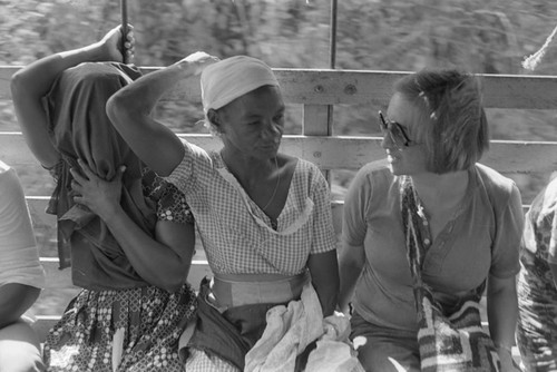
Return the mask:
[[[313,187],[314,219],[313,244],[310,254],[325,253],[336,249],[333,217],[331,212],[331,190],[321,170],[315,170]]]

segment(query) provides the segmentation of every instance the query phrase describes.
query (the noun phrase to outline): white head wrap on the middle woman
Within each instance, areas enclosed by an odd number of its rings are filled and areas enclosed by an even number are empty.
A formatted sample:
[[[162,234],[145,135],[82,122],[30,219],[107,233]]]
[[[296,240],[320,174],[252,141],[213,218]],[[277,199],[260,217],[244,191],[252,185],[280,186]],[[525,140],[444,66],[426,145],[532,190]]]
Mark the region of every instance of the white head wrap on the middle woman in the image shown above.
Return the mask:
[[[235,56],[207,66],[201,77],[203,110],[219,109],[263,86],[278,87],[271,68],[257,58]]]

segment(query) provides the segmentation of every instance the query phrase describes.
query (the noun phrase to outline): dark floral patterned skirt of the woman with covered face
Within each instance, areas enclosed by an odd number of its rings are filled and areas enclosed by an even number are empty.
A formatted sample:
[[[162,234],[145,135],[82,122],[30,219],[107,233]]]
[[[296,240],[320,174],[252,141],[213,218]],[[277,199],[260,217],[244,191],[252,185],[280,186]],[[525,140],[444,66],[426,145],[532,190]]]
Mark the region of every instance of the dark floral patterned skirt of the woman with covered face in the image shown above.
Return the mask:
[[[45,343],[48,371],[183,371],[178,340],[196,312],[185,284],[81,291]]]

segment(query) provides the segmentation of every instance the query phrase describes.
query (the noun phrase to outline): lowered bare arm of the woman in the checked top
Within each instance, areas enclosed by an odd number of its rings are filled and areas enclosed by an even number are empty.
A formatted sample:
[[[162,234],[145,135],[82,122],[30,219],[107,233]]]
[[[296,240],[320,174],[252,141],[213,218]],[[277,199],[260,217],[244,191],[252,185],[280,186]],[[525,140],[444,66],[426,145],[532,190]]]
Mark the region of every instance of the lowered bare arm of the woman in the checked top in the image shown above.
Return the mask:
[[[332,315],[339,291],[339,263],[336,251],[312,254],[307,258],[312,284],[317,293],[323,316]]]

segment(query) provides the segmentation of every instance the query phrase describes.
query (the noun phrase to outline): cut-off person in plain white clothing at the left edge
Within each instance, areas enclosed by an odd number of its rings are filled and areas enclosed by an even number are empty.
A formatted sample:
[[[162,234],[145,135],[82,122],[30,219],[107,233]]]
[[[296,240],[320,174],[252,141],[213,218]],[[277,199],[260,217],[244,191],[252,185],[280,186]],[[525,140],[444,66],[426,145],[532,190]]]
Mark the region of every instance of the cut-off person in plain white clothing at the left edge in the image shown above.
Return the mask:
[[[39,337],[23,315],[43,285],[23,188],[0,161],[0,371],[45,371]]]

